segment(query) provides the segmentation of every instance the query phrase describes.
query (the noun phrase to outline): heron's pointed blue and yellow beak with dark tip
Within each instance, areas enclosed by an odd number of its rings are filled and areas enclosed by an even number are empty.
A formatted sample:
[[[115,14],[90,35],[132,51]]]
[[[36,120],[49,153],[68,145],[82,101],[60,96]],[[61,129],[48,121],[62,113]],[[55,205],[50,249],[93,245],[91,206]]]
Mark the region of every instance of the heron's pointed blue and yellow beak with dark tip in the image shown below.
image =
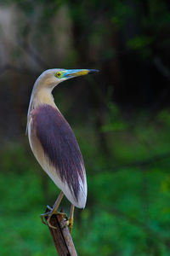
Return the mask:
[[[63,78],[71,79],[74,77],[84,76],[88,73],[98,73],[97,69],[68,69],[63,72]]]

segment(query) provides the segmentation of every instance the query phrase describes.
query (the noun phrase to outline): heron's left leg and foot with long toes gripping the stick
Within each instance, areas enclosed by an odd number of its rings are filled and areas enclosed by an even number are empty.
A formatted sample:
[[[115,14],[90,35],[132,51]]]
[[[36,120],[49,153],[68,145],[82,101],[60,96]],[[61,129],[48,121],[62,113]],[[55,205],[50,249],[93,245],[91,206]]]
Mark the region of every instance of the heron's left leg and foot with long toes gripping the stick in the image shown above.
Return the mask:
[[[50,218],[52,217],[53,214],[56,214],[56,215],[57,215],[57,214],[61,214],[61,215],[64,215],[64,216],[66,217],[66,214],[65,214],[64,212],[58,212],[59,204],[60,204],[61,200],[63,199],[63,196],[64,196],[64,193],[61,191],[61,192],[59,193],[59,196],[58,196],[57,200],[56,200],[55,203],[54,203],[54,207],[53,207],[53,208],[48,207],[48,209],[49,209],[50,211],[41,214],[42,223],[43,223],[43,224],[48,224],[48,226],[49,226],[50,228],[56,229],[56,227],[54,227],[54,226],[52,226],[52,225],[50,224]],[[45,223],[44,220],[43,220],[43,217],[46,217],[46,216],[48,216],[48,219],[47,219],[47,222]]]

